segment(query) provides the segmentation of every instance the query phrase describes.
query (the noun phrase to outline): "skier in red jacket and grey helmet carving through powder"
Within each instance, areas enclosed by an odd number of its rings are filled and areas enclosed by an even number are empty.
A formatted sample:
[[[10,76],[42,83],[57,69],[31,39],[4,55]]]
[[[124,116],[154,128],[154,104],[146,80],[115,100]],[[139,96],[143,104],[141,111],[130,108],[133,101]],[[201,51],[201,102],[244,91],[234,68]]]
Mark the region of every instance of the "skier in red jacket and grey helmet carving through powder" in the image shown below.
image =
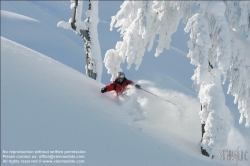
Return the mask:
[[[116,96],[118,96],[126,90],[128,85],[134,85],[134,82],[127,79],[123,72],[118,72],[115,81],[103,87],[101,92],[105,93],[114,90],[116,92]],[[136,84],[135,87],[140,88],[140,85]]]

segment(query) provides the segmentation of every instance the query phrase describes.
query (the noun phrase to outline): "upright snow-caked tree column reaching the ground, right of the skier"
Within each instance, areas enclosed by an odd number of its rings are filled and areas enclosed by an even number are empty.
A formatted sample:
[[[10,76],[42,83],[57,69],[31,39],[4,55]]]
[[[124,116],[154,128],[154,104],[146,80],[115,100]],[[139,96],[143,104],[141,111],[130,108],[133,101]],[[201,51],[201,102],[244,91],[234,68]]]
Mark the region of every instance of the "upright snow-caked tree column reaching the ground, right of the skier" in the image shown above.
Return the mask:
[[[197,66],[192,79],[199,86],[202,105],[201,123],[205,123],[202,147],[216,154],[226,145],[229,128],[229,110],[221,87],[221,74],[226,79],[230,65],[231,37],[224,16],[223,2],[198,2],[196,14],[187,22],[190,34],[188,57]]]

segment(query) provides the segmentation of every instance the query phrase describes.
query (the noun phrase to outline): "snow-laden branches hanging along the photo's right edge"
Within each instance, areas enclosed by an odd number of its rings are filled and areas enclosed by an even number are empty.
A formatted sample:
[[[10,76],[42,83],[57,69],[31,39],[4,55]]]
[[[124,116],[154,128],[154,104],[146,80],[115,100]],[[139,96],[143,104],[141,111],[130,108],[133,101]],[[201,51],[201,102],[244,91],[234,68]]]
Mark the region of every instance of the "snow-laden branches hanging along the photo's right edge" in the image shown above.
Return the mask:
[[[231,28],[231,66],[228,93],[235,97],[240,111],[239,123],[250,127],[250,1],[227,1]]]

